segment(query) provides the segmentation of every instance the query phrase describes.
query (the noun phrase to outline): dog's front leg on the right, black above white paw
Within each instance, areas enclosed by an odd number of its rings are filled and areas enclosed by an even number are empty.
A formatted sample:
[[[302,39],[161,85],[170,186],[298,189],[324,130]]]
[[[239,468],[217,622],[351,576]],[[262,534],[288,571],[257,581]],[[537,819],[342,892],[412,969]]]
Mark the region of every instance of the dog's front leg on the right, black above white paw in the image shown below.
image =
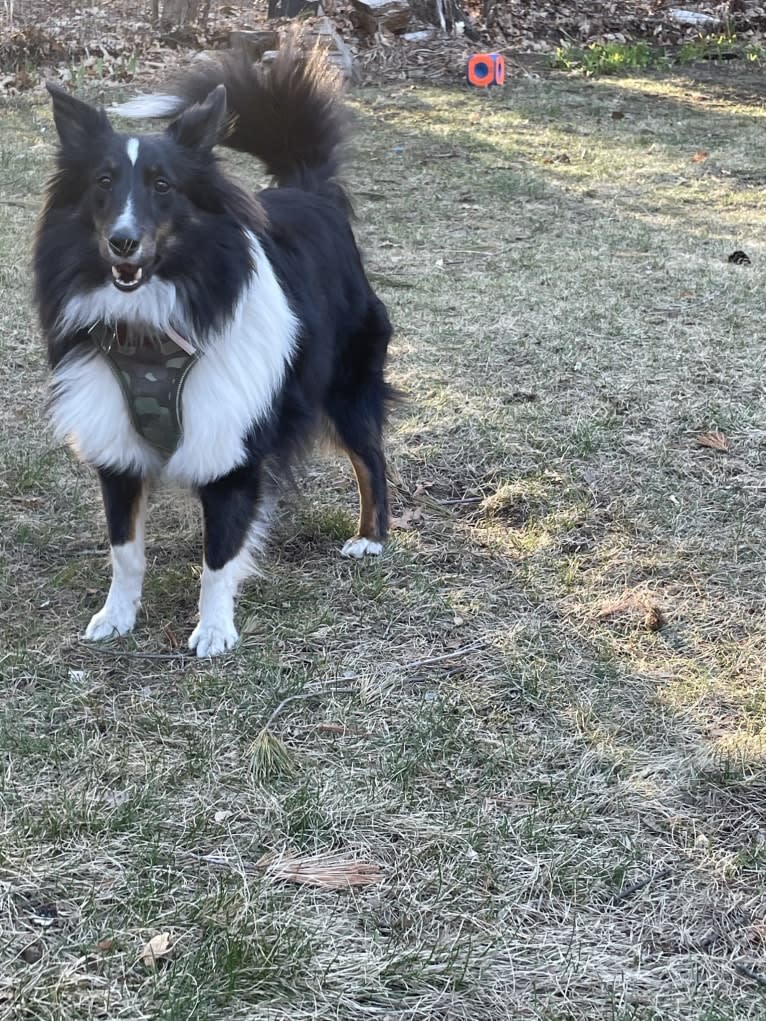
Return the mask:
[[[201,486],[204,515],[204,568],[199,592],[199,624],[189,639],[197,655],[220,655],[236,644],[234,601],[242,581],[253,572],[252,557],[266,538],[270,500],[260,473],[251,466]]]

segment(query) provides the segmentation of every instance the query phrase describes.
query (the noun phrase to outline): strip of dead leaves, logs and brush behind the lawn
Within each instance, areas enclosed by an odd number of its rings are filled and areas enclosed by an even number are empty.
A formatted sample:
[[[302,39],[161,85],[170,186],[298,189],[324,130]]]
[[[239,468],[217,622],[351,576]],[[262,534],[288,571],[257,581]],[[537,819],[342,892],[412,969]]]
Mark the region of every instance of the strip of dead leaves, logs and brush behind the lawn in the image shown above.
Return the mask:
[[[145,82],[190,56],[230,47],[233,34],[281,34],[296,21],[270,18],[268,0],[208,2],[196,21],[175,26],[158,21],[155,6],[4,5],[0,93],[34,88],[43,74],[75,84]],[[567,44],[637,40],[675,46],[702,33],[760,43],[766,33],[766,0],[324,0],[324,10],[315,0],[307,7],[299,18],[307,38],[332,35],[335,62],[360,82],[454,79],[476,49],[546,53]]]

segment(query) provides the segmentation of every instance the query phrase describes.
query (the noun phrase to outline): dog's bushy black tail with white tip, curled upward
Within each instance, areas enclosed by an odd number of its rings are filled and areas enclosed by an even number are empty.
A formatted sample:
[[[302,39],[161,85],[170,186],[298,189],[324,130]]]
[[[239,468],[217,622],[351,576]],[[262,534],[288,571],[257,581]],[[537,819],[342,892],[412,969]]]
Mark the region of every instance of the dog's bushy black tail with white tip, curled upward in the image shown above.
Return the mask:
[[[320,51],[302,54],[288,44],[269,65],[236,53],[202,63],[169,93],[139,96],[111,108],[127,117],[164,117],[201,103],[226,86],[231,115],[222,143],[260,159],[281,187],[322,191],[336,184],[348,112],[337,75]]]

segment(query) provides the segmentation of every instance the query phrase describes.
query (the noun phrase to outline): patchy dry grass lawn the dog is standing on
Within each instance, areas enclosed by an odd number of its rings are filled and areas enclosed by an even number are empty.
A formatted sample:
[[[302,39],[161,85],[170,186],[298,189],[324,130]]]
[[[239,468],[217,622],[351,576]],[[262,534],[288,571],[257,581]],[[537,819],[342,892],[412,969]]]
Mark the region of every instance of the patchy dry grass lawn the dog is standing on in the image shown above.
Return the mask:
[[[357,106],[399,527],[341,561],[318,457],[213,664],[179,650],[172,494],[136,635],[76,637],[106,568],[41,428],[50,118],[5,113],[0,1017],[762,1018],[763,109],[672,80]]]

